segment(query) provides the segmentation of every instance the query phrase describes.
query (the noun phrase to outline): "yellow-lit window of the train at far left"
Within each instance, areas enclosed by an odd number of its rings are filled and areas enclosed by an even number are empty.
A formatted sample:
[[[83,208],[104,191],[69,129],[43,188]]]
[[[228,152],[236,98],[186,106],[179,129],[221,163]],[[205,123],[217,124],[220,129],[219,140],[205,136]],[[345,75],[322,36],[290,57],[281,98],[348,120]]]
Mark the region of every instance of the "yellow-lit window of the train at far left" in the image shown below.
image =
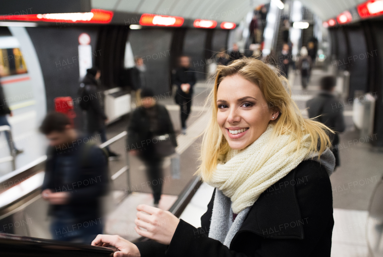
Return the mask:
[[[19,48],[0,49],[0,76],[27,73],[25,60]]]

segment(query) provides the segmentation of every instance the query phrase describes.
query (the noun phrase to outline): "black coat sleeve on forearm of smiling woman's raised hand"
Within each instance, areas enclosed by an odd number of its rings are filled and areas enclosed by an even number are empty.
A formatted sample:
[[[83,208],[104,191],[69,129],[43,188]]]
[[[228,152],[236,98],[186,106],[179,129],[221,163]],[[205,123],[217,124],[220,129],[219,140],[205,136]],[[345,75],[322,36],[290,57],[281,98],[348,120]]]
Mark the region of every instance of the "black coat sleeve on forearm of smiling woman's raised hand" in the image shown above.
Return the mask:
[[[207,236],[206,231],[180,220],[172,241],[166,250],[169,257],[246,257],[230,250],[218,240]]]

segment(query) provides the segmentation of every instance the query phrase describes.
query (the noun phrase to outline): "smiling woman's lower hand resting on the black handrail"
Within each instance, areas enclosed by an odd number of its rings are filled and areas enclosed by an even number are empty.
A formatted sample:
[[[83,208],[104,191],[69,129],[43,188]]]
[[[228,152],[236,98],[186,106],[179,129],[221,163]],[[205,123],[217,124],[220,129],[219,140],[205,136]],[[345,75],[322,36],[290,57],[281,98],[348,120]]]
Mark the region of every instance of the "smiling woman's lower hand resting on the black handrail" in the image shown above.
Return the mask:
[[[137,246],[121,236],[97,235],[92,246],[114,246],[118,249],[113,257],[141,257]]]

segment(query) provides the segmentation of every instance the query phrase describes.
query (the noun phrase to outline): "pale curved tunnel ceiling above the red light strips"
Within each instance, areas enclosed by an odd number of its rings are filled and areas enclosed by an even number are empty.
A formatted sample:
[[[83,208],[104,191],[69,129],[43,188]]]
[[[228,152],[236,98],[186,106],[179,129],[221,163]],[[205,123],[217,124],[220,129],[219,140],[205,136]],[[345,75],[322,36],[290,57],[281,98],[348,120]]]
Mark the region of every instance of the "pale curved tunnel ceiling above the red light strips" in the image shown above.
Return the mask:
[[[270,0],[92,0],[92,8],[239,23],[254,7],[268,2]],[[301,0],[301,2],[322,20],[328,20],[365,0]]]

